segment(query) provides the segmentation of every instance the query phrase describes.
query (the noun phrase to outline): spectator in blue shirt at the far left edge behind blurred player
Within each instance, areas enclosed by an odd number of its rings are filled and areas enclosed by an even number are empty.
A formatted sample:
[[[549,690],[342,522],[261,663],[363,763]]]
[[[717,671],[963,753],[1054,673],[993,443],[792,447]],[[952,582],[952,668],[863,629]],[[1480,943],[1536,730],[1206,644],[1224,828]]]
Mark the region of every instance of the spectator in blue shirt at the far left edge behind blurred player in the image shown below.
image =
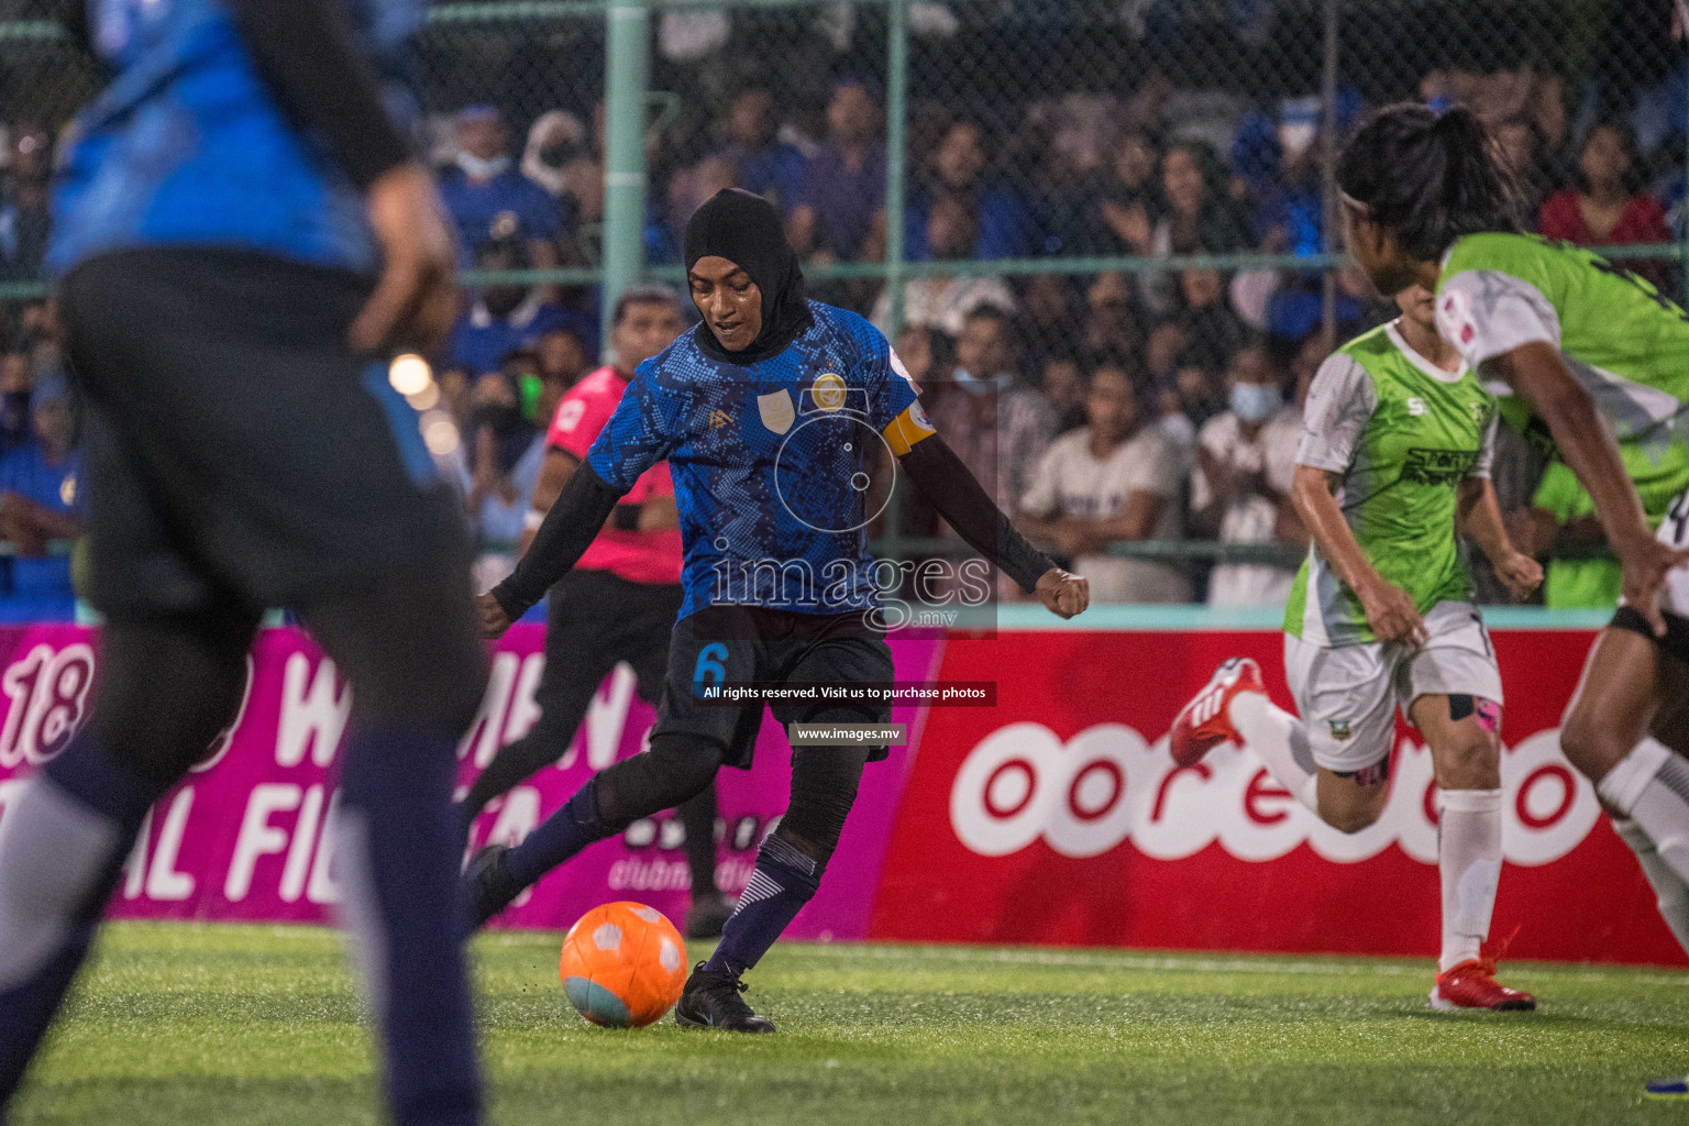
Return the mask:
[[[76,405],[62,375],[35,385],[30,397],[34,441],[0,461],[0,537],[10,540],[12,594],[46,616],[73,609],[69,555],[52,555],[56,540],[83,532],[83,459],[76,451]]]

